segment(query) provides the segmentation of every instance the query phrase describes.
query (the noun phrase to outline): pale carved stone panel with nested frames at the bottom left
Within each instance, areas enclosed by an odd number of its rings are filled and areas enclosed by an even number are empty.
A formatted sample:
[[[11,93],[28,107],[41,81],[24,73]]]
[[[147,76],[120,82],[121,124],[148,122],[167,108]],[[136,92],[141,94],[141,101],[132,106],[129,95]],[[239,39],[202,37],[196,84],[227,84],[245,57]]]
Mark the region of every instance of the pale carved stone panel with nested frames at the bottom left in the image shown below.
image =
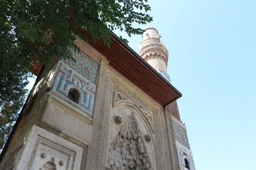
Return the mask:
[[[34,125],[17,169],[79,170],[82,155],[83,148]]]

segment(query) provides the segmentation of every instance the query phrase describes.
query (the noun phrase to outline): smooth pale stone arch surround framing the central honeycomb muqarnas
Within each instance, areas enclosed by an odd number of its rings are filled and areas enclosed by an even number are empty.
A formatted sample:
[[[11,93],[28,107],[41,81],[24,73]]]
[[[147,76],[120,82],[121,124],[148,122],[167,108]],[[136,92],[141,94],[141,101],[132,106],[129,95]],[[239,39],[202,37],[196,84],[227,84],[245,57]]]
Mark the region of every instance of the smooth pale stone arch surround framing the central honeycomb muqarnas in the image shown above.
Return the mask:
[[[155,137],[154,137],[154,128],[153,128],[153,117],[151,119],[147,114],[135,103],[123,97],[120,93],[115,92],[113,94],[113,103],[110,109],[109,117],[109,128],[107,136],[107,152],[106,152],[106,167],[108,167],[108,157],[111,152],[110,145],[112,144],[113,139],[116,138],[117,134],[120,131],[120,128],[129,121],[129,117],[133,114],[134,119],[138,122],[138,128],[142,136],[143,143],[146,146],[147,154],[149,157],[149,162],[151,164],[150,169],[156,168],[156,153],[155,153]],[[121,117],[122,123],[118,124],[115,122],[115,117]],[[151,122],[152,121],[152,122]],[[151,141],[147,142],[145,136],[151,136]],[[111,168],[111,167],[110,167]]]

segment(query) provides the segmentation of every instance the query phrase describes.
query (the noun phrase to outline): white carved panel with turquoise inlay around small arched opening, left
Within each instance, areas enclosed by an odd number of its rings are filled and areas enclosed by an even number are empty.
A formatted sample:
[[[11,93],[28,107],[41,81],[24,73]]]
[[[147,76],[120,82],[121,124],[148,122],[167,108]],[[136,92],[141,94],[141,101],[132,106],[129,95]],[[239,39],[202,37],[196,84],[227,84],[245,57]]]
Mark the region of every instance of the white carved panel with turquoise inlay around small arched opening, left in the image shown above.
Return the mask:
[[[59,62],[53,91],[92,115],[96,85],[62,61]]]

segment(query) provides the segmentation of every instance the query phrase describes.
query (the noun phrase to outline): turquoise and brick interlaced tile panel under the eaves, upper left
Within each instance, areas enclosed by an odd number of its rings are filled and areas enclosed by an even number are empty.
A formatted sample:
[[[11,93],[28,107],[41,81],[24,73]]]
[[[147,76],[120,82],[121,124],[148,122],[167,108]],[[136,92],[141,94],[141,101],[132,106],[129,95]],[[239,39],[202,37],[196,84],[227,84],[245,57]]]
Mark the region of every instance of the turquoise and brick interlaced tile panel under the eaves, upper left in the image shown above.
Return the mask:
[[[73,68],[76,72],[83,75],[90,82],[96,84],[99,63],[91,59],[82,51],[79,53],[71,48],[69,50],[72,53],[72,57],[75,59],[75,62],[71,58],[65,60],[62,58],[62,61]]]

